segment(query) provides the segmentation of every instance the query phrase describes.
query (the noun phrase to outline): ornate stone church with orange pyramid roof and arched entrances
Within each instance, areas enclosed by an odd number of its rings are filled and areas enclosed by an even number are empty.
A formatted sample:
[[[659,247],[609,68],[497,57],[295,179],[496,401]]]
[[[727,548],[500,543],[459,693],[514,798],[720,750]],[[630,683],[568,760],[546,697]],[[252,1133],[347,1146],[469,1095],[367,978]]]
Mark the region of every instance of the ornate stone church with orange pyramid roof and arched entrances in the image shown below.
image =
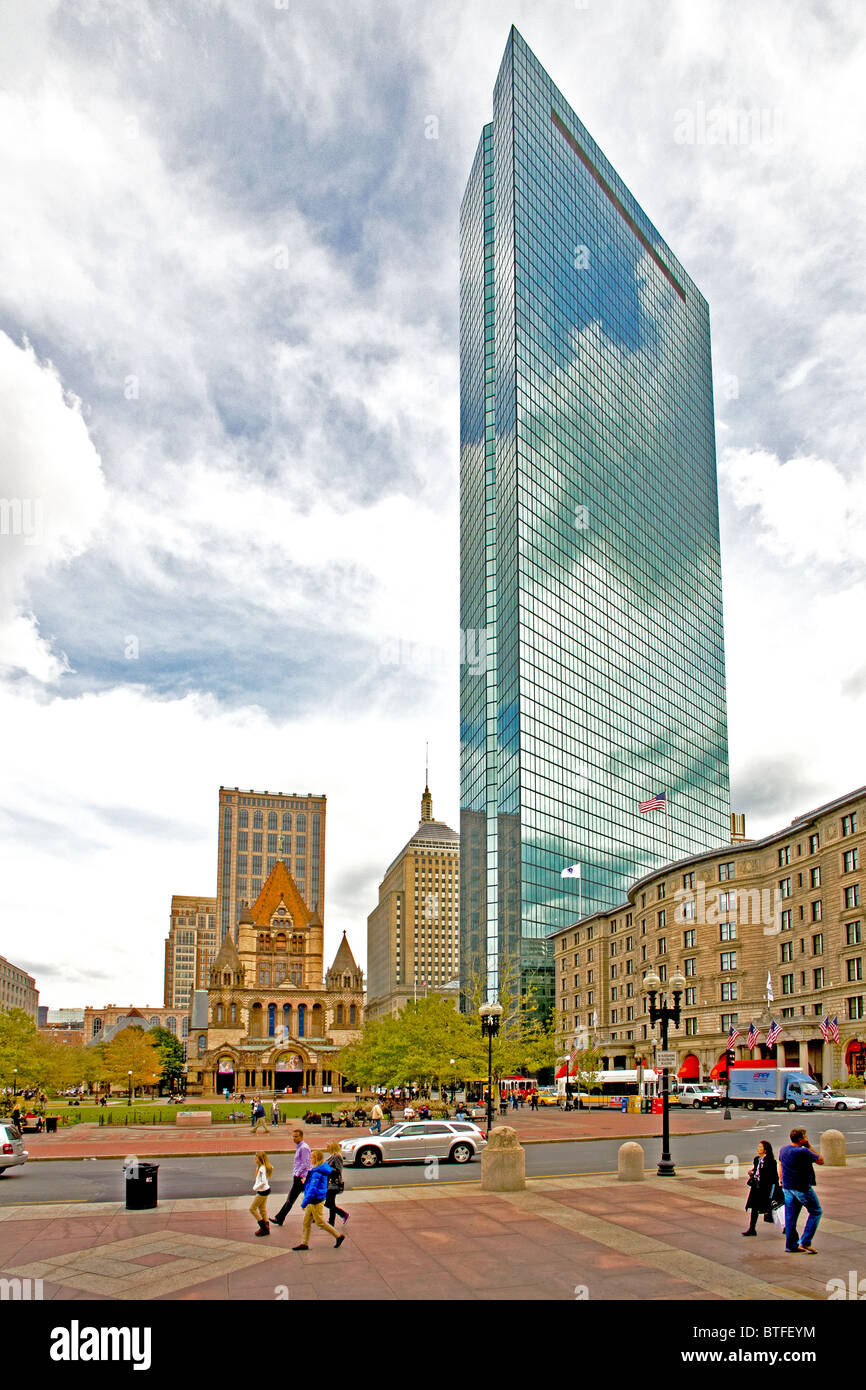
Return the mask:
[[[324,965],[324,923],[278,859],[193,997],[188,1091],[339,1094],[336,1052],[359,1036],[364,977],[343,933]]]

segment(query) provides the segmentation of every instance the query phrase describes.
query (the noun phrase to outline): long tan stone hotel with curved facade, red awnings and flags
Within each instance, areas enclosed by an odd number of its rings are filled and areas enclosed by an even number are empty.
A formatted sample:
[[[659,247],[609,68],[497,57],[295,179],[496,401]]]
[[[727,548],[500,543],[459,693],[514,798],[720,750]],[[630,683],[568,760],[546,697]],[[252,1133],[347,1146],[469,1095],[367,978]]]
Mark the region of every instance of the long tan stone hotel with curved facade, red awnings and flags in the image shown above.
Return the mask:
[[[748,1058],[749,1023],[781,1024],[776,1056],[823,1081],[866,1063],[866,787],[763,840],[666,865],[628,899],[553,934],[563,1049],[595,1037],[606,1066],[652,1065],[642,977],[685,976],[670,1047],[684,1074],[709,1076],[728,1029]],[[767,977],[773,998],[767,999]],[[669,1001],[670,1002],[670,1001]],[[840,1041],[822,1020],[838,1019]],[[752,1054],[762,1058],[766,1044]]]

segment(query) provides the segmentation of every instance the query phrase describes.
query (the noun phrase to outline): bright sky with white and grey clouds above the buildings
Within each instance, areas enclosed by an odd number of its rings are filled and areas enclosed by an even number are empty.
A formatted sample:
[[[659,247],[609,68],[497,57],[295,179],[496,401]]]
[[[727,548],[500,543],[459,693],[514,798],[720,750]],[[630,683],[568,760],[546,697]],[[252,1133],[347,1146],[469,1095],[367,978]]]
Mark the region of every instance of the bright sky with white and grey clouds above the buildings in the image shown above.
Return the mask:
[[[220,784],[327,949],[457,809],[457,208],[514,22],[706,295],[734,806],[866,781],[859,0],[0,0],[0,954],[158,1004]],[[435,118],[435,120],[434,120]]]

